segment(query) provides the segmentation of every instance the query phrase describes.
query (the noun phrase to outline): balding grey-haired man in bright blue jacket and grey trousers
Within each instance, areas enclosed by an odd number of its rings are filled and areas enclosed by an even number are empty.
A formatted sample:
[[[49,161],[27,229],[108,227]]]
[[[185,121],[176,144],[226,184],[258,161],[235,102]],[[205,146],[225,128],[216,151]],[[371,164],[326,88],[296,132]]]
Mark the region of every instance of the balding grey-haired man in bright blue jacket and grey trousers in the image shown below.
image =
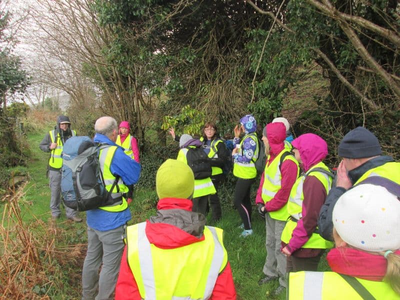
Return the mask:
[[[127,185],[137,182],[141,166],[118,146],[118,126],[110,116],[94,124],[94,143],[109,145],[99,150],[99,163],[105,189],[120,201],[86,211],[87,252],[82,269],[82,299],[109,299],[114,292],[124,247],[122,235],[130,211]],[[112,188],[112,189],[111,189]],[[99,272],[101,266],[101,270]]]

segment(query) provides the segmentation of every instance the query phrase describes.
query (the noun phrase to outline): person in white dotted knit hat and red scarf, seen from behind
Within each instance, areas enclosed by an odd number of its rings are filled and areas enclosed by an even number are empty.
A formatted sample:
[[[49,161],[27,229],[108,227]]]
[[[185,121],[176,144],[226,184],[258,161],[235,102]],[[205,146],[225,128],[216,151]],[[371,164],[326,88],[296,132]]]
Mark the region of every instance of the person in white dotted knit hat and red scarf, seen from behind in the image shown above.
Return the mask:
[[[400,299],[400,201],[383,186],[358,184],[336,201],[331,272],[288,273],[286,299]]]

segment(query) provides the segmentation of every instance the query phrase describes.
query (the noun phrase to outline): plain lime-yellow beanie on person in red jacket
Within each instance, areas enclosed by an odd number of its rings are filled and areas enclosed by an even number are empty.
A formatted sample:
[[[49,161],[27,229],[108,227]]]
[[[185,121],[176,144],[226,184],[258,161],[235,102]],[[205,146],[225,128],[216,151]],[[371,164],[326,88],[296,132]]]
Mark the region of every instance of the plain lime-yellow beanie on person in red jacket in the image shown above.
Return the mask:
[[[193,171],[182,161],[167,159],[157,170],[155,188],[160,199],[187,199],[194,191]]]

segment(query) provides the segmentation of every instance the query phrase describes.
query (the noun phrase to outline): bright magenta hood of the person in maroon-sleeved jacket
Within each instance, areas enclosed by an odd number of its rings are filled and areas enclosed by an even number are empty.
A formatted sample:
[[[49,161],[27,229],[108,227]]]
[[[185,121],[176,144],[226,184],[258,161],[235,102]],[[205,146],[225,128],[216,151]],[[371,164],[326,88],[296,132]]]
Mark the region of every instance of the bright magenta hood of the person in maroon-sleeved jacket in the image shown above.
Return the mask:
[[[328,146],[322,137],[314,133],[301,134],[291,142],[297,148],[304,171],[322,161],[328,154]]]

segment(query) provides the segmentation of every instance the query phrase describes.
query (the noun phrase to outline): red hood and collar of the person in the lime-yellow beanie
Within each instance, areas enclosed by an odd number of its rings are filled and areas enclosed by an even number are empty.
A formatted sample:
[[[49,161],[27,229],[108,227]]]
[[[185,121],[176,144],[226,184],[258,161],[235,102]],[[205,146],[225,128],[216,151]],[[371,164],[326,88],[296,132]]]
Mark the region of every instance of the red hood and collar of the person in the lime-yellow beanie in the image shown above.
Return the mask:
[[[191,212],[192,205],[193,203],[188,199],[163,198],[158,201],[157,209],[181,209],[182,212]],[[176,212],[179,213],[178,210]],[[177,248],[204,240],[203,234],[198,238],[172,224],[163,222],[151,223],[149,220],[146,220],[145,232],[148,241],[162,249]]]

